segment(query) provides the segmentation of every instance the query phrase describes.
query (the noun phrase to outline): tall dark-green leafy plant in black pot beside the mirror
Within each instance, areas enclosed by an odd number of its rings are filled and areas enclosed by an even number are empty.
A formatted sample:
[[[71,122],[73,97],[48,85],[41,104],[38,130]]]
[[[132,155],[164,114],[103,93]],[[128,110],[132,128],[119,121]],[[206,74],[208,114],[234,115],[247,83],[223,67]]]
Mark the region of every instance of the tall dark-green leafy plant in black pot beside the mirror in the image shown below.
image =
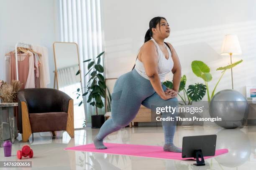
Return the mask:
[[[85,88],[85,92],[82,94],[82,96],[88,96],[87,103],[90,103],[90,105],[96,107],[96,115],[91,115],[92,119],[92,128],[100,128],[103,123],[105,122],[104,115],[98,115],[97,108],[104,107],[104,104],[102,102],[102,97],[105,98],[105,78],[103,77],[102,73],[104,72],[104,68],[102,65],[100,65],[101,56],[104,54],[104,51],[101,52],[97,57],[91,58],[88,60],[84,60],[83,62],[89,62],[88,63],[88,72],[86,75],[90,73],[90,79],[87,82],[87,86]],[[97,60],[97,62],[96,62]],[[77,72],[79,74],[79,72]],[[86,76],[84,75],[84,76]],[[79,92],[80,89],[77,89],[77,92]],[[79,93],[78,97],[81,95]],[[79,106],[82,105],[83,100],[79,103]]]

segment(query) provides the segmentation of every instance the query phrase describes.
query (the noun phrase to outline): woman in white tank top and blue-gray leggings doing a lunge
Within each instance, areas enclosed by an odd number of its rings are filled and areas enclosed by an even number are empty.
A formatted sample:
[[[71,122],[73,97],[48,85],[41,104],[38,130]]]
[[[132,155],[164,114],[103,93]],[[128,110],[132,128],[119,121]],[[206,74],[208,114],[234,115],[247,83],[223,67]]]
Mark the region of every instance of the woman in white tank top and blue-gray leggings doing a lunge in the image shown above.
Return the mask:
[[[172,45],[164,39],[169,37],[170,28],[166,19],[155,17],[149,22],[149,29],[145,35],[135,63],[135,69],[127,72],[115,82],[111,114],[99,133],[93,140],[96,149],[107,149],[103,139],[117,130],[129,125],[136,117],[141,104],[152,109],[153,107],[177,107],[177,94],[181,79],[181,66],[178,55]],[[173,73],[173,89],[162,85],[168,72]],[[162,112],[161,117],[175,117],[177,112]],[[176,129],[174,121],[162,121],[164,130],[164,151],[180,153],[181,149],[173,144]]]

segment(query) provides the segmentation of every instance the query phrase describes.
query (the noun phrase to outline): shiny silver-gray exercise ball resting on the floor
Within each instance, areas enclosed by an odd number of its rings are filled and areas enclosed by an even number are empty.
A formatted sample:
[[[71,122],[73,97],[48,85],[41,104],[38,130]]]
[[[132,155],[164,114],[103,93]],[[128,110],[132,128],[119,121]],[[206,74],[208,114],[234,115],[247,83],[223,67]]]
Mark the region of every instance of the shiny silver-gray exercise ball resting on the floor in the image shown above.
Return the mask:
[[[236,90],[221,90],[210,102],[210,116],[219,117],[215,123],[223,128],[237,128],[247,120],[249,105],[246,98]]]

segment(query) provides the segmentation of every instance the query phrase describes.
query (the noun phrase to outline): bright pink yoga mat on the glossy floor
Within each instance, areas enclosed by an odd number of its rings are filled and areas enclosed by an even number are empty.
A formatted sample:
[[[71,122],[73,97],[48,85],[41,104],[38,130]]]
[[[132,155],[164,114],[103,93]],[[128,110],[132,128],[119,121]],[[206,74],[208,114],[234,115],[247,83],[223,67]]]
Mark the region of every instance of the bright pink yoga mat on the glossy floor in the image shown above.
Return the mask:
[[[149,145],[130,145],[130,144],[119,144],[119,143],[104,143],[108,149],[95,149],[93,143],[87,145],[80,145],[70,148],[65,148],[64,150],[77,150],[95,153],[110,153],[117,155],[131,155],[131,156],[142,156],[149,158],[164,158],[164,159],[174,159],[174,160],[188,160],[194,158],[182,158],[182,153],[166,152],[161,146],[149,146]],[[215,151],[215,156],[228,153],[227,149],[219,149]],[[205,159],[211,158],[213,156],[206,156]]]

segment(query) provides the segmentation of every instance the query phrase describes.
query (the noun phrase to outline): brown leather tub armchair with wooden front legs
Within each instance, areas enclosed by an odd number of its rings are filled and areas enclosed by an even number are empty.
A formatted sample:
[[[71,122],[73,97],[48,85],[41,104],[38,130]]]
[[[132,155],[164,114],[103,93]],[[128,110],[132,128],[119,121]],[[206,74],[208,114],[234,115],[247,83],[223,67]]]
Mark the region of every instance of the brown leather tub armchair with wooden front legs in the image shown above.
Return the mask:
[[[20,90],[18,99],[18,130],[23,142],[32,133],[67,130],[74,138],[74,102],[66,93],[50,88]]]

